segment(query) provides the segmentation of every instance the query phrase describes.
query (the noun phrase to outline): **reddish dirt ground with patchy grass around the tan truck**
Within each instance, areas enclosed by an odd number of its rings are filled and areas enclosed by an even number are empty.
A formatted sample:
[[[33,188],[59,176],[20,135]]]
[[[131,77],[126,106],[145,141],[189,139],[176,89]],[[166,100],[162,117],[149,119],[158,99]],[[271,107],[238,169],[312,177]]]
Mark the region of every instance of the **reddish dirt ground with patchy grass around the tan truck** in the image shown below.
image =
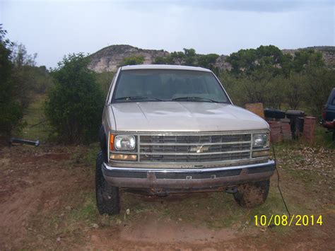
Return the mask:
[[[327,250],[335,247],[335,151],[278,149],[291,214],[322,226],[257,227],[254,215],[286,214],[271,179],[266,203],[242,209],[230,194],[150,197],[123,191],[119,216],[95,208],[94,148],[0,149],[0,250]]]

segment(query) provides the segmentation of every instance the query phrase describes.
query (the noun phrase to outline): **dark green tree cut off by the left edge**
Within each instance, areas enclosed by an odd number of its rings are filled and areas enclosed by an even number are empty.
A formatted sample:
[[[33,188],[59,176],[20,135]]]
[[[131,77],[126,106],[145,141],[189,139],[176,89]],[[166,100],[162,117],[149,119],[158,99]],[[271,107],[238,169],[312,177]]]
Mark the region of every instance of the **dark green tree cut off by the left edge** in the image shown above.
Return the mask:
[[[22,125],[22,108],[13,95],[11,73],[12,43],[5,38],[6,30],[0,25],[0,134],[10,136],[13,129]]]

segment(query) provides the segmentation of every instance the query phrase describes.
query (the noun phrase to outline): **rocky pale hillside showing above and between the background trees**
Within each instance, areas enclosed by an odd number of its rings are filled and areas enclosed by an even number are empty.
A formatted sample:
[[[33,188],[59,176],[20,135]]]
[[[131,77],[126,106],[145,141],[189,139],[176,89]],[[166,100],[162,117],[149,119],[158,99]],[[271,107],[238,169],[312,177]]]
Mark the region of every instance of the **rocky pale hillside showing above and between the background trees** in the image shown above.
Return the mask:
[[[335,66],[335,47],[334,46],[319,46],[319,47],[307,47],[301,49],[315,49],[322,52],[324,57],[324,62],[328,66]],[[283,49],[283,53],[294,54],[300,49]],[[111,45],[100,49],[90,55],[90,65],[89,68],[96,72],[102,71],[116,71],[117,67],[122,63],[124,57],[129,57],[132,55],[141,55],[144,57],[144,64],[152,64],[155,57],[166,57],[169,52],[163,49],[141,49],[138,47],[133,47],[131,45]],[[231,69],[231,66],[226,62],[226,55],[221,55],[216,59],[216,64],[219,69]]]

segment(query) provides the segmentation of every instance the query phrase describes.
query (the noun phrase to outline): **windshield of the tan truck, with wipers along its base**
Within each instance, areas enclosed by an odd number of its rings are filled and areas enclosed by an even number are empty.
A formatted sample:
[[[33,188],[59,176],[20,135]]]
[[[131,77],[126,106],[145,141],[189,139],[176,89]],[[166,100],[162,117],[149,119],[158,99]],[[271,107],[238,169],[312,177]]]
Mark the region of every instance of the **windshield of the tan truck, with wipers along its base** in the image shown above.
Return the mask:
[[[121,71],[112,103],[141,101],[230,103],[211,72],[175,69]]]

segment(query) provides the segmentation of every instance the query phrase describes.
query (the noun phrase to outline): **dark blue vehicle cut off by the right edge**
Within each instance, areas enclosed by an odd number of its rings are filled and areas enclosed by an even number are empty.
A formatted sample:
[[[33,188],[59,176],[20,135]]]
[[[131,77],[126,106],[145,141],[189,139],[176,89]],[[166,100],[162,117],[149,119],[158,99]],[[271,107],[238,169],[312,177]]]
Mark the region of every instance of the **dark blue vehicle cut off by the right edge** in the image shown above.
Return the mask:
[[[330,132],[333,132],[333,141],[335,140],[335,88],[329,94],[327,104],[324,105],[322,112],[322,125]]]

